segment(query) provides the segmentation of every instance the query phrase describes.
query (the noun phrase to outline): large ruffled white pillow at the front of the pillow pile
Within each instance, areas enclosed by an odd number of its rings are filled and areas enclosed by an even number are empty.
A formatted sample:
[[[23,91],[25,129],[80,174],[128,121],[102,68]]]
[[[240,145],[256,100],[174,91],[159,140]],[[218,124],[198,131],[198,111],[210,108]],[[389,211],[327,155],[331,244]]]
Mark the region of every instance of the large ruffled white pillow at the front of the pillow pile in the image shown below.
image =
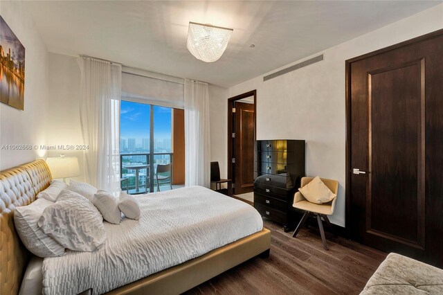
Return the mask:
[[[100,212],[71,190],[62,190],[57,202],[44,210],[38,225],[59,244],[74,251],[95,251],[106,241]]]

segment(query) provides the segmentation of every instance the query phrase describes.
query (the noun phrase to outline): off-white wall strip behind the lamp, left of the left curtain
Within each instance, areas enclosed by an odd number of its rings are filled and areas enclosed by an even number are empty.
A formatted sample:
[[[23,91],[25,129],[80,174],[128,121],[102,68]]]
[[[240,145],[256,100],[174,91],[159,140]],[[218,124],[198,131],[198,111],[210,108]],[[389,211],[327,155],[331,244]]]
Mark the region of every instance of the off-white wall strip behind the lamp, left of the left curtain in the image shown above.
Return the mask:
[[[82,145],[80,128],[80,67],[75,57],[49,53],[48,145]],[[78,157],[83,171],[82,150],[48,150],[48,157]],[[84,175],[74,177],[84,181]]]

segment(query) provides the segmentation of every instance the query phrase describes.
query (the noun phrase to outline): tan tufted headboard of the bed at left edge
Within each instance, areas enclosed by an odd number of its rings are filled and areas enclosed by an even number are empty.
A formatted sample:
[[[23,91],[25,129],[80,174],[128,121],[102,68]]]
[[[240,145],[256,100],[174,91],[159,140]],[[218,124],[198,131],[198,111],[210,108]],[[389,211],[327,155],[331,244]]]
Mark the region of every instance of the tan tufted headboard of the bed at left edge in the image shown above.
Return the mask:
[[[0,172],[0,294],[18,294],[28,250],[14,226],[14,210],[35,201],[51,184],[51,171],[37,160]]]

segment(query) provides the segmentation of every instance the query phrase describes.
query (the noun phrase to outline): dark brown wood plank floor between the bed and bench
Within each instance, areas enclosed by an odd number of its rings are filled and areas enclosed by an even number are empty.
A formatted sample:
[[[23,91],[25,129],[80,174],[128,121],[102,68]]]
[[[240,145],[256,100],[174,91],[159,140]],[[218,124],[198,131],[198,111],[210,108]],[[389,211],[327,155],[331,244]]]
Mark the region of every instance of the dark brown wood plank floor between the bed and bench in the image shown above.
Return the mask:
[[[359,294],[387,253],[326,234],[322,247],[318,229],[305,228],[292,238],[281,226],[271,230],[271,255],[253,258],[186,294]]]

